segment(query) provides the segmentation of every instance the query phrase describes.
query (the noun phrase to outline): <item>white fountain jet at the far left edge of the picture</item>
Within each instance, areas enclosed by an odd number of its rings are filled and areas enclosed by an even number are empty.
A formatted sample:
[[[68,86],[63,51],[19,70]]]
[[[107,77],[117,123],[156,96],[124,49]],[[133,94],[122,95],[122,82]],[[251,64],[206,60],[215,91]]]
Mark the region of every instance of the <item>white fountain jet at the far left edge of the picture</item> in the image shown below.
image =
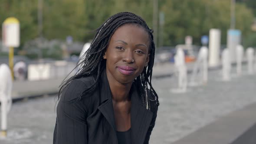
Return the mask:
[[[12,85],[12,76],[8,65],[0,65],[1,137],[7,137],[7,113],[12,105]]]

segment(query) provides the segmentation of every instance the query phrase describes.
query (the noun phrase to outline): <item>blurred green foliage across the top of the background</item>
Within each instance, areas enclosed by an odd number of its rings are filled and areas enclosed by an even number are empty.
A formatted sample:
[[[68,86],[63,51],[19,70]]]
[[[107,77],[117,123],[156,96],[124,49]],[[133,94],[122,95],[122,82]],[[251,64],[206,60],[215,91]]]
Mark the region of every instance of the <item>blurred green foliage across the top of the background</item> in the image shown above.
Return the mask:
[[[42,0],[43,37],[62,39],[72,36],[74,41],[87,42],[109,16],[130,11],[153,25],[153,0]],[[236,28],[243,38],[250,35],[253,13],[256,16],[256,0],[237,0]],[[20,38],[26,41],[39,36],[38,0],[0,0],[0,22],[14,16],[20,20]],[[158,0],[158,11],[164,12],[163,44],[174,46],[184,43],[184,37],[193,36],[199,45],[202,35],[209,29],[221,29],[221,42],[226,43],[230,27],[230,0]],[[1,32],[1,29],[0,29]],[[160,29],[158,29],[160,33]],[[159,38],[155,38],[159,39]]]

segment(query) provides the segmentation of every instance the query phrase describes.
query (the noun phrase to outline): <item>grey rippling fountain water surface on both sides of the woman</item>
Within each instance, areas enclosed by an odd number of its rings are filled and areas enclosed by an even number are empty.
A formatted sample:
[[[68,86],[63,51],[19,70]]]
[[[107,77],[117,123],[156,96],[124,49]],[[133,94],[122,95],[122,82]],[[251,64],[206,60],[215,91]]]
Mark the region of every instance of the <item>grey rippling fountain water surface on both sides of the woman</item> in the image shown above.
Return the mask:
[[[232,111],[256,102],[256,75],[233,75],[232,81],[222,82],[220,71],[212,70],[207,85],[189,87],[184,94],[170,92],[177,86],[176,82],[175,77],[152,80],[160,106],[150,144],[171,144]],[[51,144],[55,104],[55,96],[15,103],[9,113],[8,137],[0,139],[0,144]]]

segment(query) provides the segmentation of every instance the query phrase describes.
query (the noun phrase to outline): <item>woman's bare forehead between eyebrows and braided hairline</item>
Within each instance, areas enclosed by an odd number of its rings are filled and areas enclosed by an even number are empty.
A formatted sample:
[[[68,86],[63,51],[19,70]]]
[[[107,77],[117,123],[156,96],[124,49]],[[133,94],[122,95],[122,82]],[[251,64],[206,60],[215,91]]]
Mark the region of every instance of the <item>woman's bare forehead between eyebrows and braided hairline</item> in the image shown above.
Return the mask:
[[[125,24],[116,29],[111,41],[124,40],[127,43],[143,43],[149,46],[149,35],[146,29],[136,24]]]

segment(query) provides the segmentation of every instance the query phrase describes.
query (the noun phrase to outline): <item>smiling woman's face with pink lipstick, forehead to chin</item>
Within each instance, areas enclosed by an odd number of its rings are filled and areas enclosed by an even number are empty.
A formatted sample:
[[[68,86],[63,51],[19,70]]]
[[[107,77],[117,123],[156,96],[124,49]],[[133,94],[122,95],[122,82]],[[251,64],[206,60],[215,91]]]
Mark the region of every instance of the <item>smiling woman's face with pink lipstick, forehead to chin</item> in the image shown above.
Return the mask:
[[[149,36],[140,26],[125,24],[112,35],[104,55],[109,82],[128,84],[149,61]]]

